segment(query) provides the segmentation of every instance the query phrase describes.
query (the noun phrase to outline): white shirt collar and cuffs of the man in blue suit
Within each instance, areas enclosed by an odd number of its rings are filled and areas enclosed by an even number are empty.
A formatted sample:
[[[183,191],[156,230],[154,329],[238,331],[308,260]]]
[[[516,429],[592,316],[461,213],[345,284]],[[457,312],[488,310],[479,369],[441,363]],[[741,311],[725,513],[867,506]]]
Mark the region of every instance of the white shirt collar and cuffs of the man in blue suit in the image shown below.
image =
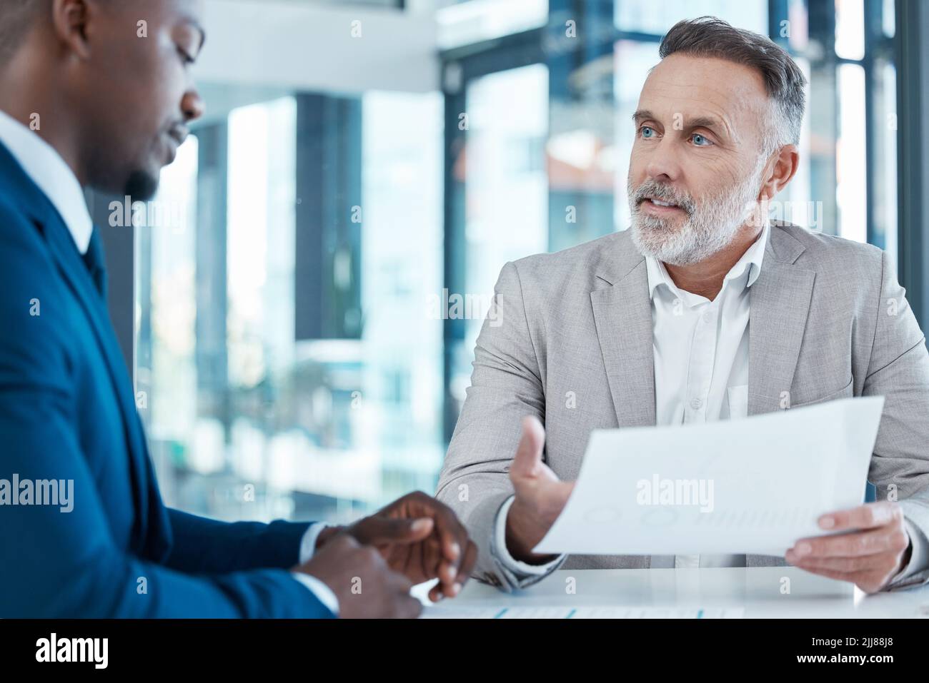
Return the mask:
[[[84,189],[71,167],[61,155],[29,128],[0,110],[0,144],[4,145],[33,183],[46,195],[58,210],[61,220],[68,227],[77,251],[85,254],[90,245],[94,223],[87,211]],[[313,556],[316,539],[326,524],[311,524],[300,544],[300,564]],[[294,578],[313,592],[330,611],[338,615],[339,603],[329,586],[318,578],[305,573],[294,573]]]

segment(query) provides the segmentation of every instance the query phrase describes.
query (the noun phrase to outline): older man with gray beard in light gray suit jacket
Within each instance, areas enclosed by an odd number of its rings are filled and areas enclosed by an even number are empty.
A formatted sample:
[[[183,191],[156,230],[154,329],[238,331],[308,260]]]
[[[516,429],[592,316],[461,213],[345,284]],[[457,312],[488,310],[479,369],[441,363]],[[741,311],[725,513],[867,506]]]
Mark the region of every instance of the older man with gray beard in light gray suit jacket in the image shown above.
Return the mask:
[[[869,592],[922,584],[929,355],[904,290],[874,247],[756,219],[796,172],[805,78],[779,46],[719,19],[678,23],[660,53],[635,112],[631,229],[504,266],[503,323],[478,338],[438,498],[478,540],[478,578],[504,589],[558,566],[785,560]],[[797,539],[786,558],[531,551],[568,499],[591,430],[875,394],[880,502],[819,520],[849,534]]]

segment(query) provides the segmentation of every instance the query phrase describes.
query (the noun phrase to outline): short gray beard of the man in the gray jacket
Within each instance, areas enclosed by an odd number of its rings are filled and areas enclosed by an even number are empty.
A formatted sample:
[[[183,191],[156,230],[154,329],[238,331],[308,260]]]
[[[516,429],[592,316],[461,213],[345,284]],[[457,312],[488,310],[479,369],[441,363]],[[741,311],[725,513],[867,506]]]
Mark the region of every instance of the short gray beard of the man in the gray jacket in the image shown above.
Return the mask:
[[[757,175],[752,174],[739,186],[697,203],[684,225],[676,230],[668,220],[641,213],[635,206],[635,189],[630,184],[629,209],[635,246],[646,256],[672,265],[700,263],[722,251],[749,217],[758,193]]]

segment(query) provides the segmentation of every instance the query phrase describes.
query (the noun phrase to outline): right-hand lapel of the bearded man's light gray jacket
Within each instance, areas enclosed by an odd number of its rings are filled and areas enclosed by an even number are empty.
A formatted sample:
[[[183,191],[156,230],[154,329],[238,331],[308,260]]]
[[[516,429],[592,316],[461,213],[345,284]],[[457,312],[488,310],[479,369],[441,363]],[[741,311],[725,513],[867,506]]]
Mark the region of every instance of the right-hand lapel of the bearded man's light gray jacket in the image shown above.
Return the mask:
[[[749,322],[749,415],[789,407],[816,273],[793,263],[804,246],[772,226]],[[786,400],[785,400],[786,399]]]

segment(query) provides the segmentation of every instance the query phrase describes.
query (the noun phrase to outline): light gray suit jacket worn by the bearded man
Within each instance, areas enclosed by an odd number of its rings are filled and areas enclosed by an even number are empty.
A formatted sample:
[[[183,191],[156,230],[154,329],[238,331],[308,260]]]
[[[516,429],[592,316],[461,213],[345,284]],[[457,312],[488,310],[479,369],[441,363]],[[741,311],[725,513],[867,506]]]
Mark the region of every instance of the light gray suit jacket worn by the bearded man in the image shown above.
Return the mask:
[[[845,396],[883,395],[869,480],[929,536],[929,354],[883,251],[772,222],[751,289],[749,414]],[[491,553],[493,520],[512,495],[520,422],[545,426],[545,461],[577,478],[591,430],[655,424],[651,302],[628,232],[504,265],[496,318],[474,373],[437,496],[478,544],[475,576],[512,588]],[[572,402],[568,400],[573,393]],[[815,454],[811,454],[815,456]],[[568,569],[647,568],[648,556],[569,556]],[[747,566],[783,565],[748,555]],[[922,568],[890,587],[929,581]]]

